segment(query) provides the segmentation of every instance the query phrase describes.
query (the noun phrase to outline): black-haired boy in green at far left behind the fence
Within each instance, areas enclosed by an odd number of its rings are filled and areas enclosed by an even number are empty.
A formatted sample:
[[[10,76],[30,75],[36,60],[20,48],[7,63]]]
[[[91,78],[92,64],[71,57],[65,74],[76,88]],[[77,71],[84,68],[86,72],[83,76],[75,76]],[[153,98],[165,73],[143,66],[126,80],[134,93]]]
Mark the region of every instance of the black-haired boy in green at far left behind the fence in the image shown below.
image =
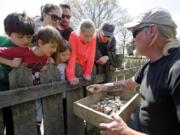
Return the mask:
[[[4,29],[7,36],[0,36],[1,47],[27,48],[34,34],[34,22],[25,13],[10,13],[4,19]],[[9,90],[9,72],[21,63],[21,58],[12,60],[0,57],[0,91]],[[14,135],[11,107],[2,109],[6,135]]]

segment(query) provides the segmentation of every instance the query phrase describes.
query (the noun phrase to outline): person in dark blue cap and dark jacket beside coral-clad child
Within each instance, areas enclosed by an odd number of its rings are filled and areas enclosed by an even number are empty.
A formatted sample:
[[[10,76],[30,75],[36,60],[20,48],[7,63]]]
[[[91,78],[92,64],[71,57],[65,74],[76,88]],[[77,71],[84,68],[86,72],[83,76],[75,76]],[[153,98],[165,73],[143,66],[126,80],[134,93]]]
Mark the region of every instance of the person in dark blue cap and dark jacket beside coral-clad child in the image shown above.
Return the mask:
[[[106,72],[112,65],[110,56],[116,53],[116,39],[114,37],[115,26],[110,23],[104,23],[96,31],[96,57],[97,72]]]

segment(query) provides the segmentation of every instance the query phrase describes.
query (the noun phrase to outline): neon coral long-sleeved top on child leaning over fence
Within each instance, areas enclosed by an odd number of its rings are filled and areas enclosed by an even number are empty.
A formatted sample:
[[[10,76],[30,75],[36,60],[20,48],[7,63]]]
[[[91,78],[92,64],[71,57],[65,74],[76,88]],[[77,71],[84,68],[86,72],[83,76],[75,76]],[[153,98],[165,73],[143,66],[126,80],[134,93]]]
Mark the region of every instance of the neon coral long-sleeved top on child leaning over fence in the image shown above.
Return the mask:
[[[84,75],[91,75],[96,51],[96,38],[84,43],[80,35],[72,32],[69,38],[71,44],[71,55],[66,67],[66,76],[68,80],[75,78],[76,62],[81,65]]]

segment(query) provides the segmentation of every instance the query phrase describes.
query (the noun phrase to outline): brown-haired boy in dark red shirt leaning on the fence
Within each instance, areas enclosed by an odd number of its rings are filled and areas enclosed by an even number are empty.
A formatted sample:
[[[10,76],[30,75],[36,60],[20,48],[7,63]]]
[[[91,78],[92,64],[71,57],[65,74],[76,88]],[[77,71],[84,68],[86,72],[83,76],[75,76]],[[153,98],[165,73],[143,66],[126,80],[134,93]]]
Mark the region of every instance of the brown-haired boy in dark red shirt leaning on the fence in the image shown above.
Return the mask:
[[[13,60],[13,58],[21,58],[22,62],[27,64],[27,67],[31,69],[33,75],[33,84],[40,84],[39,72],[42,67],[47,63],[50,56],[56,52],[57,46],[62,42],[62,37],[59,32],[51,27],[46,26],[40,29],[37,33],[38,45],[34,48],[22,48],[22,47],[1,47],[0,57]],[[42,120],[42,106],[41,101],[36,101],[36,122],[37,126]],[[38,128],[39,129],[39,128]]]

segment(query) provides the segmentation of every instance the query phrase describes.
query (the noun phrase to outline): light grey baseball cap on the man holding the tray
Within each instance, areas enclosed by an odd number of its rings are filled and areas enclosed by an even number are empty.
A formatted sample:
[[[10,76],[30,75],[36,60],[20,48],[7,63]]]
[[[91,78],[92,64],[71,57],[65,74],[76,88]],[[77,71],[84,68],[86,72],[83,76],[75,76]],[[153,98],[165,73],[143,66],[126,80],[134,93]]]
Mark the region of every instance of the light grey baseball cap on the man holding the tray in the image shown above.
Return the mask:
[[[134,30],[140,25],[160,24],[177,28],[170,13],[163,8],[153,8],[138,16],[133,22],[126,23],[124,27],[129,30]]]

